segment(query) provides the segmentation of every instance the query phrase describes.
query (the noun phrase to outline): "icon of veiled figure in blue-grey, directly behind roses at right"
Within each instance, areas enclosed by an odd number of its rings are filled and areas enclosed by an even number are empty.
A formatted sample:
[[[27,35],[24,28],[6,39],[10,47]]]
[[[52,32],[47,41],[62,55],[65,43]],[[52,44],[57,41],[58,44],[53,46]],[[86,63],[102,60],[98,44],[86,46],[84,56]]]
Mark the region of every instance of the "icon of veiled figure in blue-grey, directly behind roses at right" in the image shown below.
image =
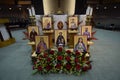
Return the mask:
[[[74,51],[87,52],[87,36],[74,36]]]

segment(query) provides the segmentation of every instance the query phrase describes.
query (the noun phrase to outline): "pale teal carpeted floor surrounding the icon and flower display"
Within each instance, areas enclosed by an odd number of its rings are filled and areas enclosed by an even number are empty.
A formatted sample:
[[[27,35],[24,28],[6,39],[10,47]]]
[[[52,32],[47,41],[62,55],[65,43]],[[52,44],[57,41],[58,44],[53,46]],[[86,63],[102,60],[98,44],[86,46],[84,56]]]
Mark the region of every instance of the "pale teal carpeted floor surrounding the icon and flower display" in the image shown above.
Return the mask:
[[[0,48],[0,80],[120,80],[120,32],[97,30],[90,47],[92,70],[80,76],[33,75],[31,47],[22,40],[25,30],[12,31],[16,43]]]

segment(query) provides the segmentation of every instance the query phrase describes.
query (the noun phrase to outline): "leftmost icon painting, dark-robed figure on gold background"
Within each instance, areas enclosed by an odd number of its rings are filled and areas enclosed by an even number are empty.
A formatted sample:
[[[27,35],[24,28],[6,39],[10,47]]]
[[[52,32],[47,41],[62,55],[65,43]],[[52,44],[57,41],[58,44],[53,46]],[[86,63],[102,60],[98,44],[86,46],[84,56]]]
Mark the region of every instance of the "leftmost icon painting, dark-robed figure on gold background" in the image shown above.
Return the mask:
[[[28,33],[30,41],[35,41],[35,36],[39,35],[39,30],[37,26],[29,26]]]

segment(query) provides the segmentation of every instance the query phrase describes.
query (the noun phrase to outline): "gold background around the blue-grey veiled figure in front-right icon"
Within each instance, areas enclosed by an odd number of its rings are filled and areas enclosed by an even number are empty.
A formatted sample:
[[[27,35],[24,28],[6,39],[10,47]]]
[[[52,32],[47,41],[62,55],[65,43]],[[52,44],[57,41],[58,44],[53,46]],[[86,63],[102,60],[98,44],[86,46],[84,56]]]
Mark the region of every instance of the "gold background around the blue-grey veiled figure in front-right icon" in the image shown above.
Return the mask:
[[[74,51],[75,51],[75,48],[78,45],[80,39],[82,39],[82,43],[84,44],[85,50],[87,51],[87,36],[82,36],[82,35],[74,36]]]

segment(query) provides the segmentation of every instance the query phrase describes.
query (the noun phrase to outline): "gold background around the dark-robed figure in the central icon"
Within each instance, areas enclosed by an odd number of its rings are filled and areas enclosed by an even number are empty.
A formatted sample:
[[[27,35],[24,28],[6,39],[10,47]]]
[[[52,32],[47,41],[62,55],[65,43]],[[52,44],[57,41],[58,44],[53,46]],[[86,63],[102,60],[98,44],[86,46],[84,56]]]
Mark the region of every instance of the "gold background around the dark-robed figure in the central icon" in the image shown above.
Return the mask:
[[[55,45],[57,46],[60,33],[62,33],[64,38],[64,45],[67,45],[67,30],[55,30]]]

